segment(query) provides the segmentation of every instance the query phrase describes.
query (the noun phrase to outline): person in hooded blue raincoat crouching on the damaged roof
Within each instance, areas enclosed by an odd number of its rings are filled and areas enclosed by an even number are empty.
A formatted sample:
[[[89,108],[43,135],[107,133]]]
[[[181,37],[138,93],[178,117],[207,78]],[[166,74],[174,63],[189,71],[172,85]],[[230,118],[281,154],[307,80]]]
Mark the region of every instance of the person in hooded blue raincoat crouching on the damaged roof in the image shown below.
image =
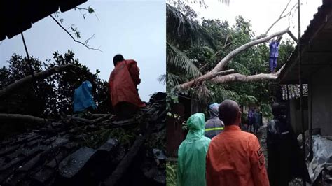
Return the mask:
[[[81,112],[89,107],[96,109],[96,103],[93,101],[92,84],[85,80],[74,92],[74,113]]]

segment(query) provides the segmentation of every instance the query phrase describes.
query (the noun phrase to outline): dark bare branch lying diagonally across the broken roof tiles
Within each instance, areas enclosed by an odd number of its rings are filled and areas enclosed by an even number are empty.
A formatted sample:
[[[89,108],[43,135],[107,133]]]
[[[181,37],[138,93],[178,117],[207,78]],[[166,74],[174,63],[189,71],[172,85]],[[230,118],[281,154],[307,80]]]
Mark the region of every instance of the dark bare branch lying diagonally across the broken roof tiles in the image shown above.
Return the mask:
[[[127,155],[125,155],[125,157],[123,157],[123,159],[121,160],[120,164],[116,166],[116,170],[113,171],[111,176],[109,176],[109,178],[106,179],[104,185],[110,185],[110,186],[116,185],[118,180],[120,180],[120,178],[123,176],[123,173],[127,171],[128,167],[132,163],[132,160],[134,159],[134,157],[136,157],[137,152],[139,152],[141,145],[144,144],[144,141],[146,140],[146,138],[148,138],[148,136],[150,136],[150,134],[151,134],[151,124],[148,124],[148,129],[146,131],[146,134],[144,134],[144,136],[141,135],[137,136],[136,140],[134,141],[134,144],[127,152]]]

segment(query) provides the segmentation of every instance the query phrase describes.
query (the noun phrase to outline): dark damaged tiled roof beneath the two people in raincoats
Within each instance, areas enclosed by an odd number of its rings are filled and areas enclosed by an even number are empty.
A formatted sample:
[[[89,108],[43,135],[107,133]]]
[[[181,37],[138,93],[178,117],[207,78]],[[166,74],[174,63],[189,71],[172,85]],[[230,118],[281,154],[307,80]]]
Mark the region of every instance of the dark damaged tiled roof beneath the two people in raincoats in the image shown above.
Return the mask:
[[[108,131],[132,129],[139,138],[145,136],[146,128],[151,126],[151,138],[165,138],[165,97],[162,92],[153,95],[146,108],[128,120],[117,121],[116,115],[92,120],[97,122],[66,117],[1,141],[0,185],[98,185],[104,182],[130,152],[132,143],[136,143],[136,140],[128,141],[126,146],[120,139],[123,135],[114,137]],[[160,150],[147,146],[137,155],[139,161],[131,163],[131,166],[139,164],[139,168],[131,171],[144,175],[153,185],[165,185],[165,166],[160,169],[155,163],[165,157]],[[155,152],[158,155],[153,156]],[[131,178],[126,181],[138,179]]]

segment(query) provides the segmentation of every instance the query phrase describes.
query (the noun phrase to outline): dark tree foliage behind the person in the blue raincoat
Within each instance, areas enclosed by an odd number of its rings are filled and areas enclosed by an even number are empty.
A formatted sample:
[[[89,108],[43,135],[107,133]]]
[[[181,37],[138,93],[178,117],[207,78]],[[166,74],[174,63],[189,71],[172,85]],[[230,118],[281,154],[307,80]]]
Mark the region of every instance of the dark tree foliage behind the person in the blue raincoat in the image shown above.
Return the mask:
[[[50,69],[53,66],[74,64],[78,66],[75,71],[55,73],[44,80],[21,87],[14,94],[1,100],[1,113],[19,113],[37,117],[59,117],[62,114],[73,113],[74,90],[85,80],[90,80],[93,86],[92,94],[97,103],[98,113],[108,113],[110,106],[108,83],[90,72],[87,66],[74,59],[74,53],[68,50],[64,55],[53,53],[53,61],[41,62],[32,57],[30,63],[26,57],[14,54],[8,60],[8,68],[0,69],[0,88],[14,83],[15,80],[31,74],[29,64],[34,73]]]

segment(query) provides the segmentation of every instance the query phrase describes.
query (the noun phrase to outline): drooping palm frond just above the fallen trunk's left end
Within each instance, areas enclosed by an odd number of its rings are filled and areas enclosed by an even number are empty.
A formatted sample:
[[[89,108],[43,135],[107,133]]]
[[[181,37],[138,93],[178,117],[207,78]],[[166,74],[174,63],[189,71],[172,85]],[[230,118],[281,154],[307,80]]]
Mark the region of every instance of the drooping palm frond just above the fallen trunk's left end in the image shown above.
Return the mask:
[[[184,52],[181,52],[175,46],[167,42],[167,52],[166,63],[167,66],[174,66],[175,69],[179,71],[184,71],[186,75],[196,78],[201,76],[200,70],[193,64],[191,59],[189,59]]]

